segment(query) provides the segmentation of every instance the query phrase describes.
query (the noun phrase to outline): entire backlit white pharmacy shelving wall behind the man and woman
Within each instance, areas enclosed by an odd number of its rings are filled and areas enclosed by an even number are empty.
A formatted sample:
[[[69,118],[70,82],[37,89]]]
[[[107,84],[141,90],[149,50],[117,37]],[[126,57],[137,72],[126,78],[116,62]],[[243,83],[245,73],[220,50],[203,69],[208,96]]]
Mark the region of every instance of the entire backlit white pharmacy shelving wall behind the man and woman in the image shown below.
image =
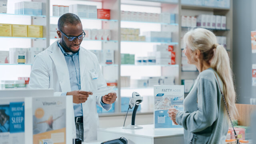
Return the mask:
[[[84,40],[82,47],[88,50],[102,50],[105,48],[112,48],[115,50],[114,64],[102,64],[102,73],[106,81],[117,82],[118,99],[115,104],[115,113],[101,114],[102,116],[119,116],[121,113],[121,97],[131,97],[133,91],[139,92],[144,97],[144,106],[142,106],[142,114],[153,114],[152,106],[154,103],[153,88],[127,88],[121,87],[121,76],[175,76],[175,84],[181,84],[182,79],[195,79],[198,76],[198,71],[182,72],[182,41],[180,38],[187,27],[181,26],[181,16],[196,16],[199,14],[214,14],[224,15],[227,17],[226,30],[212,30],[218,36],[227,37],[228,51],[230,52],[230,60],[232,62],[232,0],[230,0],[230,8],[218,8],[209,6],[193,6],[182,4],[183,0],[32,0],[35,2],[43,2],[43,16],[34,15],[16,15],[14,14],[14,3],[22,0],[8,0],[8,14],[0,14],[0,23],[9,24],[35,24],[43,25],[43,38],[13,38],[0,37],[1,50],[8,50],[8,48],[29,48],[29,47],[44,47],[47,48],[56,39],[50,38],[50,24],[57,24],[58,16],[52,16],[52,5],[66,5],[71,4],[86,4],[96,5],[97,8],[110,9],[111,20],[105,19],[89,19],[81,18],[83,28],[90,29],[110,29],[112,31],[112,38],[110,41],[104,40]],[[196,0],[200,1],[200,0]],[[202,1],[202,0],[201,0]],[[13,10],[12,10],[13,8]],[[176,14],[176,22],[174,24],[167,24],[161,22],[140,22],[122,20],[121,11],[136,11],[161,13],[169,12]],[[153,51],[155,44],[163,44],[161,42],[135,42],[122,41],[121,28],[140,28],[142,31],[162,31],[172,32],[172,42],[168,43],[174,45],[176,52],[175,65],[130,65],[121,64],[121,54],[138,54],[139,56],[146,56],[147,52]],[[11,79],[20,76],[29,77],[31,71],[31,64],[1,64],[0,65],[0,80],[11,76]],[[3,70],[2,70],[3,69]],[[20,69],[20,70],[19,70]],[[111,74],[109,74],[111,72]],[[151,107],[151,109],[150,109]],[[146,108],[146,109],[145,109]],[[144,110],[143,110],[144,109]]]

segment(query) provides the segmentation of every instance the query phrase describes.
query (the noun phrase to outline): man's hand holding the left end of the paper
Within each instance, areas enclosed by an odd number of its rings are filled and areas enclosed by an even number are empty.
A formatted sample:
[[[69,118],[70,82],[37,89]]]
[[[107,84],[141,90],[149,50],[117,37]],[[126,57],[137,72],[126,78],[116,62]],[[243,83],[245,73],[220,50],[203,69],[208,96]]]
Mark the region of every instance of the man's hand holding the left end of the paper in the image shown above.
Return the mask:
[[[67,92],[67,95],[73,96],[73,103],[81,104],[86,102],[89,95],[92,95],[92,92],[86,92],[82,90],[74,90],[72,92]]]

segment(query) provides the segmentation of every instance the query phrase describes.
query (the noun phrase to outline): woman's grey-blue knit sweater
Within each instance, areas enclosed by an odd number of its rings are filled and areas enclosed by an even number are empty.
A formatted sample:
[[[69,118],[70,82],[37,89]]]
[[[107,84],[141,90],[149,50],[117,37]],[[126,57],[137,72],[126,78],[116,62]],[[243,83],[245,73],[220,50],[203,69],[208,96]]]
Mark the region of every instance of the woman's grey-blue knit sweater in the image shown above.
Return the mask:
[[[224,115],[226,109],[214,72],[212,68],[200,72],[184,99],[184,112],[179,111],[176,115],[176,122],[184,128],[185,144],[190,143],[193,133],[193,144],[225,143],[228,118]],[[223,88],[219,76],[218,80]]]

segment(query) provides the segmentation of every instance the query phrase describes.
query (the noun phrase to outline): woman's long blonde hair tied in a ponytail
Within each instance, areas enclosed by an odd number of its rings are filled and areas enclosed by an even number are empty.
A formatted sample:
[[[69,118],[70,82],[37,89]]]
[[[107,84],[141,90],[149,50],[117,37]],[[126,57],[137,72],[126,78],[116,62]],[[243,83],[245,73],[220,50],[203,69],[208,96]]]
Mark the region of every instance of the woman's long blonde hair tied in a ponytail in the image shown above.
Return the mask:
[[[236,92],[227,51],[222,45],[217,44],[216,36],[204,28],[196,28],[187,32],[184,35],[184,42],[192,51],[200,50],[203,60],[218,72],[223,82],[223,93],[230,117],[234,119],[238,113],[235,104]],[[227,111],[224,110],[224,112],[228,116]]]

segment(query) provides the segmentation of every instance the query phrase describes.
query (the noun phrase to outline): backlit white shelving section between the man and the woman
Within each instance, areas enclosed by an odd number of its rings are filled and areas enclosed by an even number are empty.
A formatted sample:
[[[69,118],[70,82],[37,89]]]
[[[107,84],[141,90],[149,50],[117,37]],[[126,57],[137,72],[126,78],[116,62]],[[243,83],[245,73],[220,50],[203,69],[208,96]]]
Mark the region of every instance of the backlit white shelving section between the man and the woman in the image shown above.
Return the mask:
[[[178,16],[179,4],[178,0],[159,2],[156,0],[121,0],[121,11],[130,12],[147,12],[147,13],[174,13]],[[120,13],[121,13],[120,11]],[[173,45],[174,50],[178,52],[178,37],[179,37],[179,24],[176,16],[175,23],[163,22],[145,22],[135,20],[121,20],[121,28],[139,28],[140,34],[146,31],[158,32],[172,32],[172,42],[134,42],[134,41],[121,41],[120,53],[121,54],[135,54],[137,57],[145,57],[148,52],[153,52],[154,45],[168,44]],[[177,62],[178,58],[176,58]],[[120,66],[120,77],[130,76],[132,79],[140,79],[142,77],[160,77],[160,76],[173,76],[178,80],[179,65],[131,65],[122,64]],[[122,83],[122,78],[119,83]],[[153,114],[154,109],[154,88],[153,87],[120,87],[120,98],[131,97],[132,92],[138,92],[144,97],[144,102],[141,104],[142,113]],[[127,102],[122,102],[127,103]],[[121,105],[121,103],[119,104]],[[120,111],[119,111],[120,112]]]

